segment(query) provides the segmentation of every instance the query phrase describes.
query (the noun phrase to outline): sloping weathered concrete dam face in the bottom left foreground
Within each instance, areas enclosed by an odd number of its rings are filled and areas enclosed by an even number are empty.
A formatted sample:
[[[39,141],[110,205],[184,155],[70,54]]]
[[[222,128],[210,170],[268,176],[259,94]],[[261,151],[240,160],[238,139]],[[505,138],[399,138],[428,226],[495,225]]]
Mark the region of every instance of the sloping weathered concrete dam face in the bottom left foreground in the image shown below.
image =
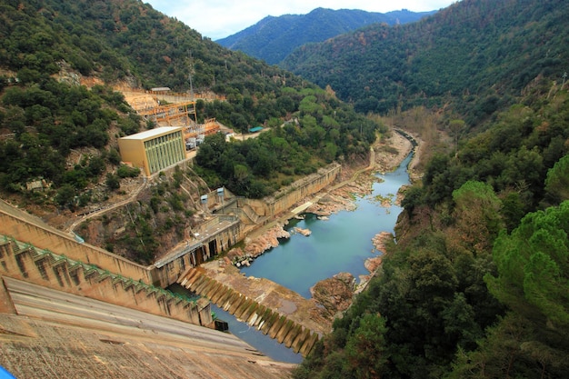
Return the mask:
[[[232,334],[5,278],[0,365],[18,379],[290,377]],[[110,321],[109,321],[110,320]]]

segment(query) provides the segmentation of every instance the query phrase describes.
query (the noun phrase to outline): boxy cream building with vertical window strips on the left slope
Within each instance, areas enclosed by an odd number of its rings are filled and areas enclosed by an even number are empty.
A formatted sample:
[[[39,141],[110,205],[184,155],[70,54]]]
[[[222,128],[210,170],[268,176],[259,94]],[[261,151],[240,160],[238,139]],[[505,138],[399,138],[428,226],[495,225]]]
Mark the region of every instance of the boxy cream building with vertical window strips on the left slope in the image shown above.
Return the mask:
[[[153,175],[185,159],[183,126],[162,126],[118,140],[121,159]]]

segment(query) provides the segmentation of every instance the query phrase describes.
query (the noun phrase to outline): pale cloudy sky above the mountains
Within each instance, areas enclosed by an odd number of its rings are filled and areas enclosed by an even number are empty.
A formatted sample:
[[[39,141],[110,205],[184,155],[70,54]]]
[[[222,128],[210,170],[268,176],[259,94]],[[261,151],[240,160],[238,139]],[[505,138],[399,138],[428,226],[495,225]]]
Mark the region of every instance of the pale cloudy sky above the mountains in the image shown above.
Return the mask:
[[[143,0],[212,40],[255,25],[267,15],[306,15],[315,8],[361,9],[387,13],[439,10],[456,0]]]

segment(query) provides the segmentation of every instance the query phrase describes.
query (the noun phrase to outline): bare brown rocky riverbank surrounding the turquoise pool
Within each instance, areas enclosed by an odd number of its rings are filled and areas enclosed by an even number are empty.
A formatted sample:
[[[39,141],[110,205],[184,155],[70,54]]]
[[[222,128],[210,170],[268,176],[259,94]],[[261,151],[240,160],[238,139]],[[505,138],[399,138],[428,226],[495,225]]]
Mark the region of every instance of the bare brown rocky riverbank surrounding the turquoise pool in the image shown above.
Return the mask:
[[[235,259],[242,259],[243,264],[247,265],[249,262],[253,262],[255,257],[276,247],[279,244],[279,239],[290,237],[290,233],[284,230],[284,226],[288,220],[297,217],[298,214],[307,212],[325,218],[341,210],[354,209],[356,196],[370,194],[374,183],[379,180],[374,174],[394,171],[404,162],[404,158],[411,153],[412,149],[413,145],[403,135],[397,133],[393,133],[383,141],[378,141],[373,146],[368,165],[343,167],[340,183],[304,199],[299,204],[294,204],[291,211],[279,215],[275,221],[266,224],[255,234],[250,234],[245,239],[244,247],[232,249],[223,261],[207,265],[205,268],[210,275],[215,276],[218,280],[223,280],[223,283],[229,282],[236,289],[245,291],[245,295],[259,298],[261,295],[256,290],[251,294],[246,293],[249,292],[247,287],[258,283],[260,280],[254,277],[246,277],[237,270],[232,265]],[[412,162],[410,167],[413,165]],[[391,205],[391,200],[378,199],[378,201],[383,206]],[[304,233],[309,234],[310,231],[304,230]],[[374,249],[383,252],[384,244],[390,238],[393,239],[393,235],[381,230],[378,230],[377,233],[373,238]],[[271,296],[273,297],[272,308],[285,311],[284,313],[289,318],[301,323],[312,324],[316,321],[319,333],[325,334],[331,330],[334,317],[351,304],[354,293],[364,287],[380,264],[381,255],[370,257],[370,260],[365,263],[370,274],[361,275],[359,285],[355,285],[355,280],[349,278],[345,273],[338,273],[334,277],[320,281],[311,289],[312,298],[308,300],[302,296],[299,298],[293,292],[279,290],[279,298]],[[267,285],[265,279],[261,282],[264,287]],[[270,293],[275,293],[272,285],[268,288],[271,288]]]

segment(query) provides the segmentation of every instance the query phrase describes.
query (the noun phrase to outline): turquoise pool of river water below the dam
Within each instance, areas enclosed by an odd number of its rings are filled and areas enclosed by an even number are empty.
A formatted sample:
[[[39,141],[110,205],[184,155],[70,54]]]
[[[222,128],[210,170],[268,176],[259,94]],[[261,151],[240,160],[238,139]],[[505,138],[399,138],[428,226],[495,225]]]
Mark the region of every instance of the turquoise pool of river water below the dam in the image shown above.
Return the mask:
[[[265,277],[310,298],[310,287],[334,274],[346,272],[359,279],[369,274],[364,267],[367,258],[376,254],[372,238],[380,232],[394,232],[401,207],[383,207],[377,196],[395,195],[402,185],[409,184],[406,168],[409,155],[394,172],[377,175],[381,183],[374,183],[372,194],[358,197],[354,211],[332,214],[328,220],[319,220],[314,214],[305,214],[304,220],[291,220],[285,229],[294,226],[309,229],[312,234],[292,234],[288,239],[259,256],[250,267],[241,269],[247,276]]]

